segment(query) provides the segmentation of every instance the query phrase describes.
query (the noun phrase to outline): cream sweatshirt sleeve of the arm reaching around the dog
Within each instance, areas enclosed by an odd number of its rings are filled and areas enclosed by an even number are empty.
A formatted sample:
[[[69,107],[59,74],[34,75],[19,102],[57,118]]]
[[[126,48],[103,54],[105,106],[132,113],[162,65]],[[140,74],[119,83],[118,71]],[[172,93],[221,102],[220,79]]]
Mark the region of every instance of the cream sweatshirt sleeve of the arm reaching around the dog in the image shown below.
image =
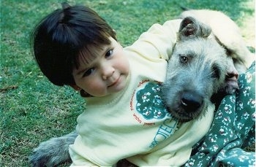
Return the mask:
[[[154,24],[139,39],[127,47],[146,58],[163,58],[168,60],[176,44],[178,28],[181,20],[168,20],[163,25]]]

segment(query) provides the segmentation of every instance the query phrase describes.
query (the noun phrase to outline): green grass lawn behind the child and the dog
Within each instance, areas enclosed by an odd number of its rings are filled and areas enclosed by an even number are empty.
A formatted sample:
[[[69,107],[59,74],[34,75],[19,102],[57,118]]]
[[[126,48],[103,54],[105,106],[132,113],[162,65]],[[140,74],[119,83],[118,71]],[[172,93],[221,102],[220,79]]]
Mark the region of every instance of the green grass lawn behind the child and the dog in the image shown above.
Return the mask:
[[[69,2],[96,10],[117,31],[124,46],[132,44],[153,23],[176,18],[180,6],[221,10],[244,28],[244,18],[255,15],[255,1],[249,0]],[[78,93],[51,84],[31,55],[32,29],[40,18],[59,7],[59,1],[1,1],[0,166],[29,166],[31,150],[41,141],[73,131],[76,117],[85,109]]]

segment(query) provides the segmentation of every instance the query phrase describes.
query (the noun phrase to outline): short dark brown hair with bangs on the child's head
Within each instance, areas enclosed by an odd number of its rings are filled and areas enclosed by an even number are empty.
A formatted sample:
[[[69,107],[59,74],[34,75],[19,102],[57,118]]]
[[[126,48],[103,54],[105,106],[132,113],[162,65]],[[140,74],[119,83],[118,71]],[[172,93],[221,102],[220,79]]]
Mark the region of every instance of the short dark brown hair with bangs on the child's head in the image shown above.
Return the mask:
[[[80,53],[91,53],[116,33],[97,12],[80,5],[62,4],[62,9],[43,18],[31,35],[31,47],[39,68],[55,85],[74,85],[72,69]],[[83,54],[83,57],[87,56]]]

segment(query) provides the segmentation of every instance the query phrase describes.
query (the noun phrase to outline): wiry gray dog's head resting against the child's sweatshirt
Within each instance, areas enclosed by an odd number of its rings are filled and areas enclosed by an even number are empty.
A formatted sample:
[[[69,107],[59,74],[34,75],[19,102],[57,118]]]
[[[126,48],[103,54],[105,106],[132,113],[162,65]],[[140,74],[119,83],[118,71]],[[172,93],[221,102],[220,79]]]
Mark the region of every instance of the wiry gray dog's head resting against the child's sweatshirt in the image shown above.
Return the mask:
[[[211,28],[195,18],[184,18],[162,86],[170,113],[181,122],[197,119],[219,90],[238,89],[237,77],[232,58],[227,58]]]

